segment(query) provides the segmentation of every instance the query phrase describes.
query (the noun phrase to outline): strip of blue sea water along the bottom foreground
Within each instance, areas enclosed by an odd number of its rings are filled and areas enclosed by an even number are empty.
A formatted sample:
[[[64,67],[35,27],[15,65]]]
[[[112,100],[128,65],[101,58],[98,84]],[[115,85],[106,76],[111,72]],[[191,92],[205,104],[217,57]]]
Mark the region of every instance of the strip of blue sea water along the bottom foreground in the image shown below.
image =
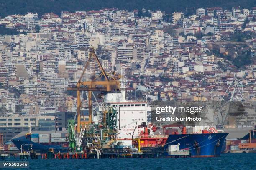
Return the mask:
[[[20,161],[7,159],[1,161]],[[24,160],[25,161],[25,160]],[[29,168],[6,170],[256,170],[256,153],[228,153],[214,158],[120,158],[26,160]]]

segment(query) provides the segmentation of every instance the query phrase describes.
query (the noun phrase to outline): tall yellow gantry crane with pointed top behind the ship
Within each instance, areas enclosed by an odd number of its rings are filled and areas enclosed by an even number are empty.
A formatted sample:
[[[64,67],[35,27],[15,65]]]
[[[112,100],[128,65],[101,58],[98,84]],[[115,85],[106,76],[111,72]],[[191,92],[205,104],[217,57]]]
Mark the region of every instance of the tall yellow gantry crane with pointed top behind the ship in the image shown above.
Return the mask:
[[[90,64],[91,63],[91,64]],[[91,67],[94,72],[91,77],[91,81],[83,81],[82,77],[86,75],[87,67]],[[95,71],[100,74],[95,75]],[[112,91],[120,91],[120,82],[118,77],[115,76],[115,73],[112,75],[107,75],[105,70],[103,69],[95,51],[92,47],[89,49],[89,58],[85,64],[84,70],[82,72],[81,77],[79,78],[77,85],[75,87],[68,87],[67,90],[75,90],[77,91],[77,131],[80,132],[80,126],[92,124],[92,91],[101,91],[101,92],[112,92]],[[88,91],[88,110],[89,110],[89,120],[82,121],[81,118],[81,91]]]

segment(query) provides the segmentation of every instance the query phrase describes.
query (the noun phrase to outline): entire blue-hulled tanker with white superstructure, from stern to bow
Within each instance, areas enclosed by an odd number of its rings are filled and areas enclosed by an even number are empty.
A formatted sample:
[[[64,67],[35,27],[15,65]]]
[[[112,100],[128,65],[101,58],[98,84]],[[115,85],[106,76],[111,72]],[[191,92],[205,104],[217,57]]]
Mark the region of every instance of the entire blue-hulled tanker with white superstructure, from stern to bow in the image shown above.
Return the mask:
[[[140,99],[126,97],[127,85],[124,80],[121,81],[120,88],[120,93],[107,93],[105,95],[105,106],[99,107],[99,114],[92,116],[94,123],[87,125],[88,131],[84,135],[84,138],[87,139],[94,138],[90,141],[83,140],[85,142],[79,148],[81,147],[83,150],[87,150],[89,146],[93,149],[131,148],[133,150],[138,149],[138,151],[140,148],[142,150],[143,148],[150,148],[153,151],[160,148],[168,157],[170,148],[176,145],[179,146],[180,151],[189,151],[189,155],[192,157],[220,156],[222,145],[228,133],[219,133],[211,126],[190,127],[192,128],[190,132],[188,127],[181,124],[156,127],[148,121],[150,120],[148,115],[150,115],[151,106],[148,105],[147,97],[143,96]],[[110,108],[109,110],[113,111],[114,114],[109,114],[110,112],[106,108]],[[103,113],[109,117],[104,118]],[[103,127],[107,124],[108,128],[111,129],[103,132]],[[39,138],[34,139],[33,133],[28,133],[12,141],[17,148],[23,151],[32,148],[35,152],[48,152],[49,149],[53,149],[54,152],[67,152],[70,149],[68,147],[69,139],[65,138],[62,143],[61,135],[58,137],[53,135],[54,133],[51,133],[51,141],[48,143],[40,141],[43,139],[40,134]],[[102,144],[102,141],[105,144]]]

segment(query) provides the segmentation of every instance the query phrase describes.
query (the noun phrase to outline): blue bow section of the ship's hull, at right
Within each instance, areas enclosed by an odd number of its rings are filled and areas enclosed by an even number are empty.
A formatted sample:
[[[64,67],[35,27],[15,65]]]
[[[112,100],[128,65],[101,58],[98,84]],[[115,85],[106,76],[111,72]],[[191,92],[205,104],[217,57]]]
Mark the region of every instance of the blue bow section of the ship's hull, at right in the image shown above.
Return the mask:
[[[228,133],[169,135],[164,147],[168,150],[168,145],[179,143],[179,149],[189,148],[191,157],[215,157],[220,156],[227,135]]]

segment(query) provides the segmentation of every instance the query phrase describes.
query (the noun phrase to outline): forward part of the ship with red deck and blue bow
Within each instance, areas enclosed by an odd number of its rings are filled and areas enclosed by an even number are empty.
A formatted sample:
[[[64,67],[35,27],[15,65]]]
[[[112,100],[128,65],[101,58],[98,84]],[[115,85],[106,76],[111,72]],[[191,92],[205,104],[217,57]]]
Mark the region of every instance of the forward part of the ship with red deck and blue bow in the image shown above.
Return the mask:
[[[145,148],[151,152],[164,150],[166,157],[171,156],[172,146],[178,146],[179,150],[176,151],[188,151],[191,157],[220,156],[228,135],[228,133],[219,133],[214,127],[209,126],[195,126],[192,127],[192,132],[188,133],[186,126],[177,123],[164,125],[162,127],[164,135],[149,135],[157,131],[154,125],[146,126],[143,123],[140,127],[144,127],[144,130],[139,134],[136,145],[139,144],[141,150]]]

